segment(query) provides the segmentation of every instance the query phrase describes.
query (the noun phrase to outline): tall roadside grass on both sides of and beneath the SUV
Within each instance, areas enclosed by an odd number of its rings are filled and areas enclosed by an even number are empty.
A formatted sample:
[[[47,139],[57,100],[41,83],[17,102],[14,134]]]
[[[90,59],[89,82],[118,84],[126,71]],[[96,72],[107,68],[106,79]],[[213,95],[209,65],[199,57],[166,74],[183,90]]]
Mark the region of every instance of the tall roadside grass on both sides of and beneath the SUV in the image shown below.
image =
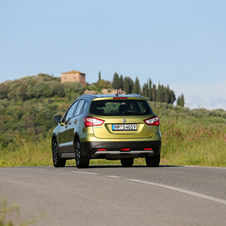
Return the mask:
[[[226,166],[226,119],[195,117],[170,109],[154,109],[160,117],[162,165]],[[120,165],[120,161],[91,160],[90,165]],[[135,159],[135,165],[145,165]],[[51,134],[26,142],[19,135],[0,152],[1,167],[52,165]],[[75,165],[75,160],[67,161]]]

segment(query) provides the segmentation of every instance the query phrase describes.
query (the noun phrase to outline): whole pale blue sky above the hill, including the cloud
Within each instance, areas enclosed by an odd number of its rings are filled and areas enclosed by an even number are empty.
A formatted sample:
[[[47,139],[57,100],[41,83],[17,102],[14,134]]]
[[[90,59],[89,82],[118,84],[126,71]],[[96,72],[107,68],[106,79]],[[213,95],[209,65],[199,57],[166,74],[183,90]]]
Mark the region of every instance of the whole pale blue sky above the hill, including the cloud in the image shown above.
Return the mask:
[[[78,70],[182,93],[226,110],[224,0],[0,0],[0,82]]]

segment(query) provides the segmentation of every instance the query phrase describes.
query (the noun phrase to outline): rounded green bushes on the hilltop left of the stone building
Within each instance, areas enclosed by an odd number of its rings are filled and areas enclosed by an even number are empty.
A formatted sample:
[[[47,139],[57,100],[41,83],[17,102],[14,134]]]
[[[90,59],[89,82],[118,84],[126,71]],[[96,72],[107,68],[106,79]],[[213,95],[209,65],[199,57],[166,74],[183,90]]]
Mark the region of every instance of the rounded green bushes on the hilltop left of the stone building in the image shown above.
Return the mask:
[[[0,84],[0,99],[15,101],[45,97],[71,97],[72,93],[81,94],[82,92],[83,86],[80,82],[61,83],[60,78],[42,73]]]

